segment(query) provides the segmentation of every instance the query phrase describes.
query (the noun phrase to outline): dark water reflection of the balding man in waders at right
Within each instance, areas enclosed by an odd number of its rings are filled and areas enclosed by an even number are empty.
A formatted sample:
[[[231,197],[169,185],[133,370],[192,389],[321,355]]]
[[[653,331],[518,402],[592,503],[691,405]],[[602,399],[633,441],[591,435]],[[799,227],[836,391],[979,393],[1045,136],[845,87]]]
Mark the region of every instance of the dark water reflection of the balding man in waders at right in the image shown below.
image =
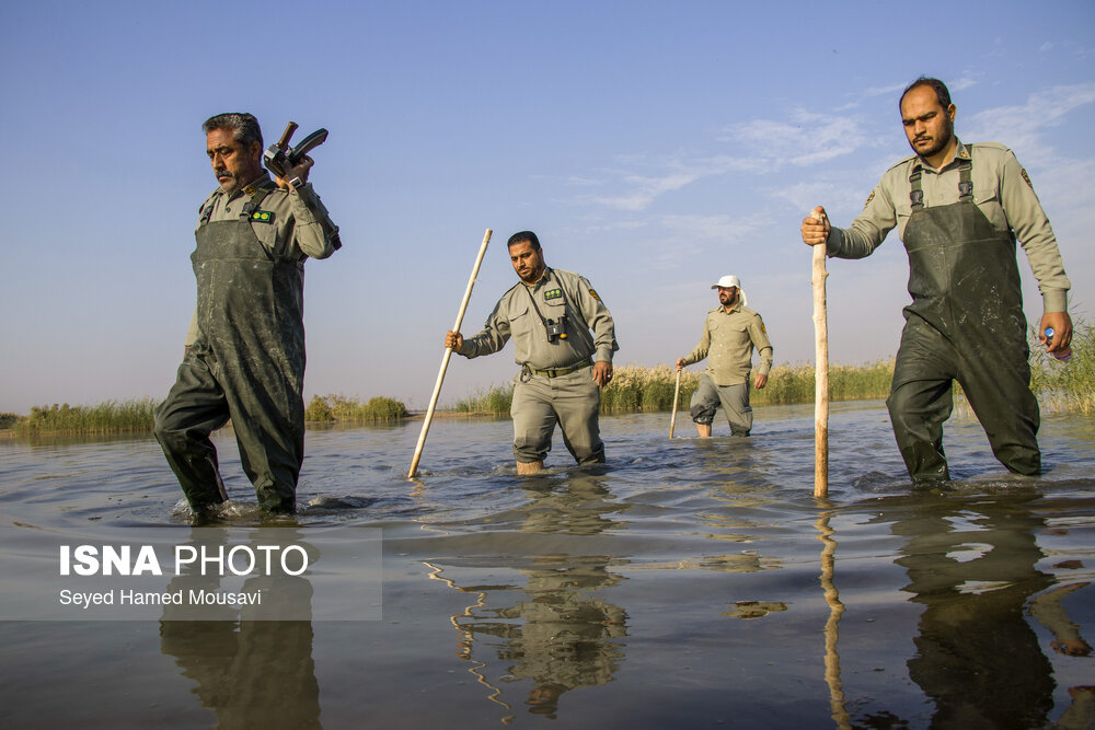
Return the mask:
[[[896,563],[925,606],[908,662],[941,727],[1035,728],[1053,707],[1052,668],[1024,616],[1053,580],[1038,570],[1037,497],[947,498],[923,505],[894,532]]]

